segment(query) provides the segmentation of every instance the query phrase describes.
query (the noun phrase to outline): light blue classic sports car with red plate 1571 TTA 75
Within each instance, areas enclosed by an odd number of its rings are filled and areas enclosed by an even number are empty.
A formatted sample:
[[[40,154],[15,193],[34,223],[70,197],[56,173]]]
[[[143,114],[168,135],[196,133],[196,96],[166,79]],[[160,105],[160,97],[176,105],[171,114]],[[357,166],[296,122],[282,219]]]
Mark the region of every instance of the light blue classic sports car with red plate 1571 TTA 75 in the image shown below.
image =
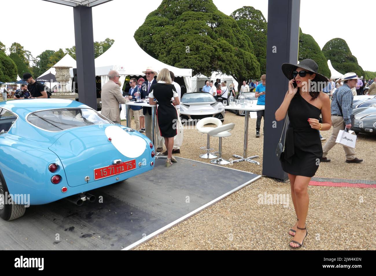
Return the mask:
[[[114,124],[80,102],[24,99],[0,102],[0,216],[12,220],[29,205],[69,196],[153,169],[145,135]]]

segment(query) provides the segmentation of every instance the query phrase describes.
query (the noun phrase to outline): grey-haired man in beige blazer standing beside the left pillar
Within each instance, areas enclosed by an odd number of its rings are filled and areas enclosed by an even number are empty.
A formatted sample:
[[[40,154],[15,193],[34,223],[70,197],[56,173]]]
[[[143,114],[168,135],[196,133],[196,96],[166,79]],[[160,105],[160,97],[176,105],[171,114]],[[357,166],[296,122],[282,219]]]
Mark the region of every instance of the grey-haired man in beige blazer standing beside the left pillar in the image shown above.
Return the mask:
[[[108,73],[109,81],[102,87],[102,111],[101,114],[120,124],[120,107],[119,104],[129,102],[128,98],[123,97],[120,86],[118,86],[120,75],[117,71],[111,70]]]

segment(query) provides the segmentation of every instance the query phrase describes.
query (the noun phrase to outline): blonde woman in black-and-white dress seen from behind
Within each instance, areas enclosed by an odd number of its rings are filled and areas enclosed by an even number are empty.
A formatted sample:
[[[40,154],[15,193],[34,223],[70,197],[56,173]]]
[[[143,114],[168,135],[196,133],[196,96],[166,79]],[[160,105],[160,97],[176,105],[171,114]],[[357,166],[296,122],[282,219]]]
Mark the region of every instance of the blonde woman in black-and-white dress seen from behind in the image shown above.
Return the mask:
[[[161,136],[165,139],[167,148],[167,162],[166,166],[172,165],[172,162],[177,162],[172,156],[172,149],[174,147],[174,136],[177,134],[177,111],[174,107],[179,105],[179,95],[172,84],[170,71],[164,68],[158,73],[158,83],[150,87],[149,104],[157,105],[157,119],[159,131]],[[172,99],[174,98],[174,101]],[[156,99],[156,102],[154,101]]]

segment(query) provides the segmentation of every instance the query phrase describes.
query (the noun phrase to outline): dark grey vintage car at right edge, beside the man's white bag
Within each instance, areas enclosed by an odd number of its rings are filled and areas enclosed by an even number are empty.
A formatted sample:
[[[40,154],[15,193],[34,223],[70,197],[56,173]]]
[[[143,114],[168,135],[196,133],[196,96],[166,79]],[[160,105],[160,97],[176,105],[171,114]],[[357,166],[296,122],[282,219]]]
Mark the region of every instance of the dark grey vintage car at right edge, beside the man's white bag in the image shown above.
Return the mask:
[[[376,107],[359,107],[353,110],[355,117],[351,129],[355,133],[376,134]]]

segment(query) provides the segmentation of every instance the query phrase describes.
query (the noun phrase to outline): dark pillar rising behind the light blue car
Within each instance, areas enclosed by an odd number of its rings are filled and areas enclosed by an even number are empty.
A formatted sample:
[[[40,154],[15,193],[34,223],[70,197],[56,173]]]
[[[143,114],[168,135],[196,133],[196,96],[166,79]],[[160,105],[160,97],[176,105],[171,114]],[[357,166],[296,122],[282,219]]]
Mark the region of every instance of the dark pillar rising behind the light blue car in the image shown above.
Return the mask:
[[[73,7],[79,101],[97,110],[92,10]]]

